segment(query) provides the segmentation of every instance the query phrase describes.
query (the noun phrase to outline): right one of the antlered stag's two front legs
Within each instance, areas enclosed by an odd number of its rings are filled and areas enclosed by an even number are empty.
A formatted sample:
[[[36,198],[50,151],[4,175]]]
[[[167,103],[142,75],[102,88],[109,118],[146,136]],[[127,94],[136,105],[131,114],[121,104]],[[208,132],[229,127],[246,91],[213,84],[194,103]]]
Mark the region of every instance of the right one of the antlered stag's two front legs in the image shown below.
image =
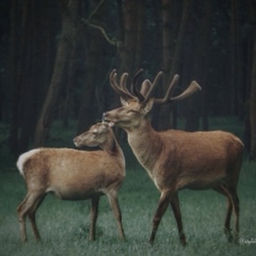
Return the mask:
[[[180,200],[179,200],[178,193],[173,194],[173,196],[171,197],[170,203],[173,209],[174,217],[177,222],[180,241],[182,245],[186,245],[186,235],[184,234],[184,231],[183,231],[182,214],[181,214]]]

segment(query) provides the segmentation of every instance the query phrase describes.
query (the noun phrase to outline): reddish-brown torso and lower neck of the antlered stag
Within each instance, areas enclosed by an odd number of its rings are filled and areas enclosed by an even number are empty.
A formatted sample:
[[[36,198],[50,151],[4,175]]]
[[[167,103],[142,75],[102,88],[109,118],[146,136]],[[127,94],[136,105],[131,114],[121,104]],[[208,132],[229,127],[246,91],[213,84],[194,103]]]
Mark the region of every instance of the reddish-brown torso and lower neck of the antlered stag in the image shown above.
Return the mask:
[[[234,175],[228,166],[236,167],[233,163],[242,148],[234,135],[223,131],[149,130],[128,131],[128,142],[159,191],[169,190],[171,184],[174,191],[212,189]]]

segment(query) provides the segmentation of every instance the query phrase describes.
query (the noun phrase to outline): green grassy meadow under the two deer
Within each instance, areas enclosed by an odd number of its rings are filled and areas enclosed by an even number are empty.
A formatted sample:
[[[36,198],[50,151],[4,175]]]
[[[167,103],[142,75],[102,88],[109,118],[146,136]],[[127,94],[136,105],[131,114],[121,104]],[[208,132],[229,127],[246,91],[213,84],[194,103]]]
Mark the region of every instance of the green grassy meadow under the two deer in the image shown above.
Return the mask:
[[[227,123],[219,122],[216,122],[217,128],[223,126],[226,130],[237,129],[234,123],[229,127]],[[239,129],[235,131],[236,134],[239,132]],[[71,134],[68,136],[72,138]],[[223,232],[226,198],[212,191],[185,190],[179,194],[188,245],[183,247],[180,244],[176,222],[169,207],[151,246],[151,220],[159,192],[154,188],[147,173],[131,157],[129,149],[125,152],[129,159],[125,182],[119,192],[125,241],[118,238],[116,223],[106,196],[102,196],[100,202],[97,240],[89,241],[89,201],[62,201],[48,195],[37,212],[42,242],[35,242],[27,221],[28,241],[22,244],[16,207],[25,194],[25,186],[15,168],[15,160],[8,158],[5,152],[0,150],[0,255],[255,255],[255,162],[250,162],[244,157],[240,174],[239,245],[228,242]]]

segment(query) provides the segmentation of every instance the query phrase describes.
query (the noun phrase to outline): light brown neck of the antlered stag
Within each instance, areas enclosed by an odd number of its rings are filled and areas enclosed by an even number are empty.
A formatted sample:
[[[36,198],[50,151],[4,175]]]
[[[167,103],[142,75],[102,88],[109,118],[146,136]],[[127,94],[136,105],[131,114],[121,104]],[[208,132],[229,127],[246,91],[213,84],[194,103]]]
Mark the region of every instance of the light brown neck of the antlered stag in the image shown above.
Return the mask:
[[[131,149],[152,178],[153,167],[161,151],[159,134],[151,127],[149,119],[144,119],[138,127],[126,132]]]

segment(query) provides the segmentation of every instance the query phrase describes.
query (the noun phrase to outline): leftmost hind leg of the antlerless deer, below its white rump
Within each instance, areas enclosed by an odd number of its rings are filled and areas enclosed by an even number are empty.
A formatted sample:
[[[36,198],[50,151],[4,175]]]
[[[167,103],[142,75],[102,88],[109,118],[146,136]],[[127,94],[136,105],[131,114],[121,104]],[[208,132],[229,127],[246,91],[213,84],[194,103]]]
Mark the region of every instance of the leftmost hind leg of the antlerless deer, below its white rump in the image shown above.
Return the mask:
[[[27,192],[26,196],[17,208],[18,218],[20,222],[21,241],[23,242],[27,240],[25,229],[25,217],[27,213],[30,211],[30,209],[36,203],[38,196],[40,196],[40,194]]]

